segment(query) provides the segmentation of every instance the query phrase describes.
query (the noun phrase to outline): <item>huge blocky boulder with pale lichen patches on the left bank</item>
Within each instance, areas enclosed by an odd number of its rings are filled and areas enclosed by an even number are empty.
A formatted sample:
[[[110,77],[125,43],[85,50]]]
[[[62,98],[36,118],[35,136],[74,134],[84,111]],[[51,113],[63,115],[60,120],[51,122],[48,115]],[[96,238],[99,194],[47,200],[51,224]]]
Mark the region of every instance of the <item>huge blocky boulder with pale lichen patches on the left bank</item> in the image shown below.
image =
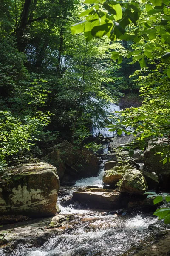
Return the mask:
[[[47,163],[8,168],[8,183],[0,183],[0,215],[55,215],[59,191],[56,168]]]

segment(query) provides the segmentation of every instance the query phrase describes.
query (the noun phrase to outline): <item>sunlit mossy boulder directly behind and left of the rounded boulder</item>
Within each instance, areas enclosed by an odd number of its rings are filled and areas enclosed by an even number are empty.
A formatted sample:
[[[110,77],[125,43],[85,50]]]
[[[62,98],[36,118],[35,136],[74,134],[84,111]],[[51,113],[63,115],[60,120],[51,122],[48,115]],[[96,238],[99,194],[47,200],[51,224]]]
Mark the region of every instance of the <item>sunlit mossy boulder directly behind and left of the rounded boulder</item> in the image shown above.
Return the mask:
[[[105,175],[103,175],[103,182],[107,185],[115,186],[129,169],[135,168],[129,165],[114,166],[111,170],[105,172]]]

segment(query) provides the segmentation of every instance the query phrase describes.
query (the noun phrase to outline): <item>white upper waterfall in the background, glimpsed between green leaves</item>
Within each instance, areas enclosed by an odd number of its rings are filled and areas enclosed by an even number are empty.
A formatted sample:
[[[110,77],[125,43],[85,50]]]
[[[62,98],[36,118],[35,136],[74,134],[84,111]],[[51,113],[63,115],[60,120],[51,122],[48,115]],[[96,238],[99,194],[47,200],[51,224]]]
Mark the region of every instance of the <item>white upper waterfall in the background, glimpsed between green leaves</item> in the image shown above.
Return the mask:
[[[108,107],[105,107],[103,108],[106,112],[108,113],[114,113],[115,114],[115,111],[120,111],[120,108],[119,106],[117,106],[116,104],[114,103],[110,103],[108,105]],[[115,132],[113,131],[109,131],[110,128],[100,128],[98,127],[97,125],[93,125],[92,127],[92,134],[94,137],[96,137],[97,135],[99,134],[102,134],[104,137],[114,137],[116,135]]]

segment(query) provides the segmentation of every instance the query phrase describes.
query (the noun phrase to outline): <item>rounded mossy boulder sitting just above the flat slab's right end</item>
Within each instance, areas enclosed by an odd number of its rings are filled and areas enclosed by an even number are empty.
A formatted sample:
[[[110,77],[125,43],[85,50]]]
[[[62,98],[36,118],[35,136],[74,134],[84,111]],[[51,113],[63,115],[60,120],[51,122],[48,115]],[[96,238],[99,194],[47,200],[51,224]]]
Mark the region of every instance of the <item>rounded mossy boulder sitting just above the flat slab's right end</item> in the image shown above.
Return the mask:
[[[127,171],[122,179],[120,192],[142,195],[147,190],[147,183],[139,170]]]

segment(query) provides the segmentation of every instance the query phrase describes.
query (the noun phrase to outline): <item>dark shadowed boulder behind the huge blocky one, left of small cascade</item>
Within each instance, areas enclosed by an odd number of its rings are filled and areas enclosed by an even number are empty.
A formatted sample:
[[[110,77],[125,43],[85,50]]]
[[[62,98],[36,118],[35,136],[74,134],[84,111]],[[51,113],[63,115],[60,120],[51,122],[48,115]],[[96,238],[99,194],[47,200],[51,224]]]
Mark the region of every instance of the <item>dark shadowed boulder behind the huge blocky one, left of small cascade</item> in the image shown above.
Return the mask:
[[[43,160],[57,168],[61,181],[65,174],[71,177],[71,181],[83,177],[97,176],[99,159],[87,148],[74,148],[68,141],[64,141],[53,148],[54,151],[43,157]]]

